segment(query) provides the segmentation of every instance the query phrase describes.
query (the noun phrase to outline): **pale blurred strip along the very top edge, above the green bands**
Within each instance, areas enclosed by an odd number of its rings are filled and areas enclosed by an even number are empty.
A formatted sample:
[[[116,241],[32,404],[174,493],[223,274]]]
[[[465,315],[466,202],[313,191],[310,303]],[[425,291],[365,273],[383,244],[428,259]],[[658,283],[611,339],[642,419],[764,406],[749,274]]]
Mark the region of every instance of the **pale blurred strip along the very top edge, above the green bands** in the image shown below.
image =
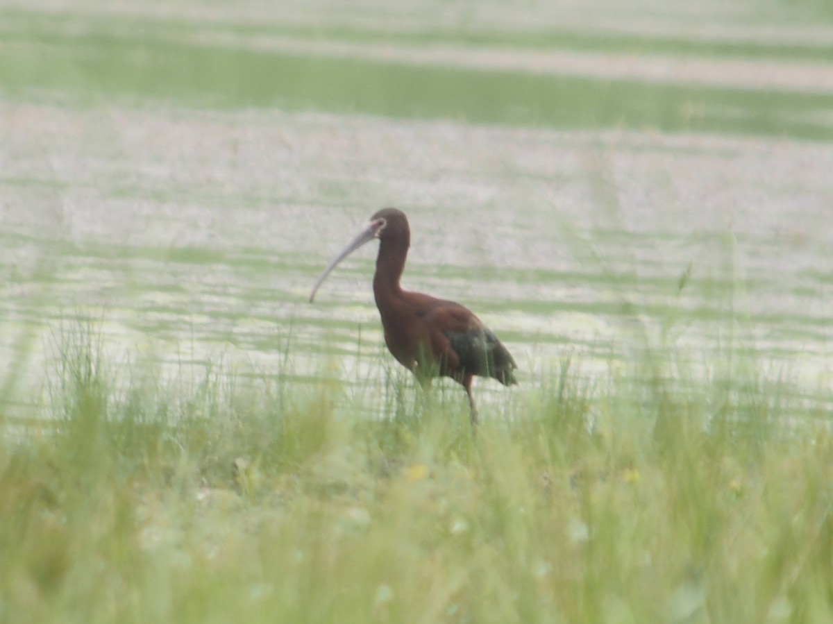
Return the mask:
[[[758,43],[829,48],[833,23],[773,0],[551,0],[521,8],[503,0],[476,5],[445,0],[4,0],[4,7],[66,12],[89,17],[151,17],[195,24],[270,24],[306,27],[370,28],[379,32],[505,32],[521,35],[546,30],[594,36],[613,34],[661,37],[682,42]]]

